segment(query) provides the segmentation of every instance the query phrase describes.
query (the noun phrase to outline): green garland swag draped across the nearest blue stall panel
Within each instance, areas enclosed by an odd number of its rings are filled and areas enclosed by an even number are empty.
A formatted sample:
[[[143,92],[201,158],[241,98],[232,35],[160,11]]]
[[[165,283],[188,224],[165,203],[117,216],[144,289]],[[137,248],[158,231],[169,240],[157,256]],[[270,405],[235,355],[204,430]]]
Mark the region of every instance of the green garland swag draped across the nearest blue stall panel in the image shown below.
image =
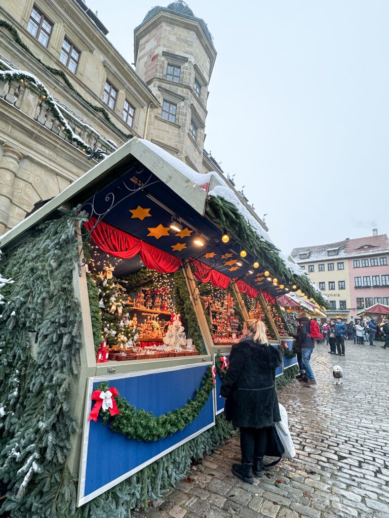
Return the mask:
[[[152,412],[143,409],[136,410],[133,405],[120,396],[115,397],[120,415],[110,417],[109,412],[103,413],[103,424],[109,422],[110,429],[125,435],[128,439],[138,441],[158,441],[183,430],[197,418],[208,400],[214,387],[211,367],[205,372],[200,389],[196,389],[193,399],[189,399],[182,408],[155,417]],[[107,391],[108,383],[101,383],[98,390]]]

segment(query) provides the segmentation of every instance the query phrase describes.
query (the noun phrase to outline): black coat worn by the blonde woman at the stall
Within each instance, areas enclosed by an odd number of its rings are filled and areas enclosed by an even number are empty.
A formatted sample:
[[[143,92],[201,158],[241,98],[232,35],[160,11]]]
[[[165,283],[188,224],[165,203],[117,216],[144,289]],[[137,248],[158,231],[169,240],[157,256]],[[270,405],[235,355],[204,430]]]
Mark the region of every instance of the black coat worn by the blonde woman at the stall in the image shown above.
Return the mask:
[[[264,428],[281,421],[274,385],[280,364],[279,351],[254,342],[251,335],[232,346],[220,395],[226,398],[225,417],[234,426]]]

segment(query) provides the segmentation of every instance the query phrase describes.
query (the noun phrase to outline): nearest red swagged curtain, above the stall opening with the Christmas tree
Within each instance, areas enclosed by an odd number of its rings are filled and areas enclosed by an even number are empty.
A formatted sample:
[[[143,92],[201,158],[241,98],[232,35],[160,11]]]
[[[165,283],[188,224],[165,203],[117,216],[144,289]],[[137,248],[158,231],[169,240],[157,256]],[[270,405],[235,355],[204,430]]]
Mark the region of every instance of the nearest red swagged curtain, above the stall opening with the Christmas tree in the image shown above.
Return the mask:
[[[84,223],[88,231],[95,225],[96,221],[96,218],[91,218]],[[156,270],[160,274],[171,274],[181,266],[181,260],[178,257],[163,252],[141,239],[130,236],[127,232],[108,225],[104,221],[100,221],[92,231],[91,236],[103,252],[123,259],[129,259],[139,254],[147,268]]]

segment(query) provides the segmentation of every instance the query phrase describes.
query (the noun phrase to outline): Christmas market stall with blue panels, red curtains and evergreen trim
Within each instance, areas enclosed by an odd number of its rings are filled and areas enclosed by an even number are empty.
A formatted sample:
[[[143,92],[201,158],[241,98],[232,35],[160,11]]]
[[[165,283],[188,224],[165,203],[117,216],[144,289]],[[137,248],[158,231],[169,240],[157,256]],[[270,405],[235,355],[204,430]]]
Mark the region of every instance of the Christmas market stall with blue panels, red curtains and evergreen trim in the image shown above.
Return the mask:
[[[244,320],[290,349],[276,297],[321,295],[232,195],[134,138],[0,239],[5,483],[26,515],[142,505],[232,433],[217,390]]]

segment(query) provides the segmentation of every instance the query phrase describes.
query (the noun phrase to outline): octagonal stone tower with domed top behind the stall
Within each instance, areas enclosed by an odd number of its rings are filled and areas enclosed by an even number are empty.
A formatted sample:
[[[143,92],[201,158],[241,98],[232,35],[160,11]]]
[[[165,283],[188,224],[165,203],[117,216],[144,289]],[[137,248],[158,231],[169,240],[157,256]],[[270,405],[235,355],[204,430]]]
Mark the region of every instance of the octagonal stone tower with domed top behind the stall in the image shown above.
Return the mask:
[[[206,23],[185,2],[154,7],[134,31],[135,65],[161,106],[146,138],[202,171],[208,85],[216,59]]]

